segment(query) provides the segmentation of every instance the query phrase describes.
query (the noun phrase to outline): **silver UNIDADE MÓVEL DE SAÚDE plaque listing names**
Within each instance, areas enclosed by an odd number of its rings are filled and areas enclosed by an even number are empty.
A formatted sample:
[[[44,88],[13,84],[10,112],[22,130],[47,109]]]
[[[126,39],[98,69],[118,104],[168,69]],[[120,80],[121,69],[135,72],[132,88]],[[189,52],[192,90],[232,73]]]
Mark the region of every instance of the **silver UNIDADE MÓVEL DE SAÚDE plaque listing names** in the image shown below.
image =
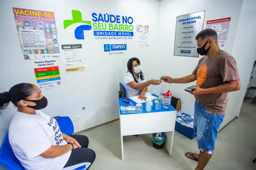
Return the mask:
[[[204,16],[200,11],[177,17],[174,56],[199,57],[195,38],[203,29]]]

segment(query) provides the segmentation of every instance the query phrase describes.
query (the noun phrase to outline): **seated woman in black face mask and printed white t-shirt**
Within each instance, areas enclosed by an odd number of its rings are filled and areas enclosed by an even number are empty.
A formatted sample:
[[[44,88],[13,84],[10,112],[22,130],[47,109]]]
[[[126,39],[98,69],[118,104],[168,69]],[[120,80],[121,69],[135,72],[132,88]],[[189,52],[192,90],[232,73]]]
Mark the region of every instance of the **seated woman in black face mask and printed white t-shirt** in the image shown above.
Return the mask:
[[[0,93],[0,113],[10,101],[18,111],[9,126],[9,142],[25,169],[89,169],[95,152],[88,148],[88,138],[61,133],[57,121],[40,110],[48,101],[37,86],[20,83]]]

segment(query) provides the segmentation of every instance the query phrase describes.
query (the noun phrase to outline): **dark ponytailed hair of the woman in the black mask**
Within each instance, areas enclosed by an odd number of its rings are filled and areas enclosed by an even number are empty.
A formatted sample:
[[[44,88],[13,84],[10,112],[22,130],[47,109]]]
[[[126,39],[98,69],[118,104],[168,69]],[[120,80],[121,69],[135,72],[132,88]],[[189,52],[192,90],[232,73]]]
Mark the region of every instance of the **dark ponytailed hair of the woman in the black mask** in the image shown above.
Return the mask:
[[[20,100],[26,100],[33,91],[35,85],[29,83],[20,83],[10,88],[9,92],[0,93],[0,113],[5,109],[10,101],[17,106]]]

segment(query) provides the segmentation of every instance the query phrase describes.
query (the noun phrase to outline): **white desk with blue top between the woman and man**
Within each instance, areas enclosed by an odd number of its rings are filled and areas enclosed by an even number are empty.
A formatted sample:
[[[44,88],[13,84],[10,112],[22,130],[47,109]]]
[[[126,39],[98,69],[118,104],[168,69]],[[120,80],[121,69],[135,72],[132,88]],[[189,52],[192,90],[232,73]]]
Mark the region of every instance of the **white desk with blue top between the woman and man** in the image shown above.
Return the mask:
[[[156,96],[155,94],[153,95]],[[127,99],[129,100],[129,98]],[[122,114],[120,107],[129,106],[130,104],[122,102],[123,98],[119,98],[118,100],[122,160],[124,160],[123,136],[135,134],[164,132],[166,134],[165,147],[168,153],[172,154],[173,135],[177,112],[174,107],[170,105],[168,109],[164,109],[162,105],[160,110],[154,110],[152,106],[151,112],[146,112],[146,103],[142,103],[142,113]],[[130,101],[132,102],[133,106],[136,106],[136,103],[134,103],[132,100]]]

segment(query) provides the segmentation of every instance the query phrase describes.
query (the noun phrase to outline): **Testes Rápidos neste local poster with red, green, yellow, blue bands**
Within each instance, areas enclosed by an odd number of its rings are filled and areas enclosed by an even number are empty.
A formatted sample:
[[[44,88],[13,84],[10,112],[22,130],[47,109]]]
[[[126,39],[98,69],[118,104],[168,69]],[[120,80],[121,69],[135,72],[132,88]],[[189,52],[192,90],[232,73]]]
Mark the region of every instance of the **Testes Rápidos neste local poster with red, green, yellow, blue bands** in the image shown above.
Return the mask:
[[[60,71],[56,60],[39,59],[32,61],[32,63],[40,89],[61,86]]]

